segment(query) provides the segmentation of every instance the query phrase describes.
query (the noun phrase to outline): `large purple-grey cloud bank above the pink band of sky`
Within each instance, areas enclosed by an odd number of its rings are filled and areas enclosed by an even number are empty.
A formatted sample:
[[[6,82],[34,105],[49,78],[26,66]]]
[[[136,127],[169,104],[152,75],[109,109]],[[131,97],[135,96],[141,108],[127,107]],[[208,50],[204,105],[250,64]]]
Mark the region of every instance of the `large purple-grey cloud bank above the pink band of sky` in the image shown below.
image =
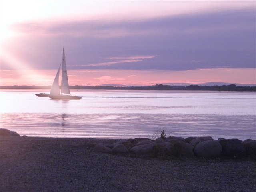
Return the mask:
[[[248,8],[136,20],[26,22],[13,26],[23,36],[8,49],[47,69],[57,68],[63,45],[70,69],[255,68],[255,16]]]

